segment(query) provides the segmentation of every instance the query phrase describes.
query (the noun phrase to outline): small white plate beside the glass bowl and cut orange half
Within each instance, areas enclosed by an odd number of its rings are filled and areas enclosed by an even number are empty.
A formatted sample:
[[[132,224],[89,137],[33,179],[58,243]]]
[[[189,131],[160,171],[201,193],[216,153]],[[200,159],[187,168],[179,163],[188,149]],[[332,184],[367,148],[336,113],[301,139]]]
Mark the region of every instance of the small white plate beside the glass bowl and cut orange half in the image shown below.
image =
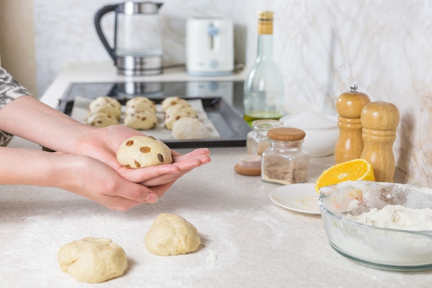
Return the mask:
[[[270,199],[275,204],[292,211],[320,215],[318,193],[313,183],[299,183],[278,187],[271,191]]]

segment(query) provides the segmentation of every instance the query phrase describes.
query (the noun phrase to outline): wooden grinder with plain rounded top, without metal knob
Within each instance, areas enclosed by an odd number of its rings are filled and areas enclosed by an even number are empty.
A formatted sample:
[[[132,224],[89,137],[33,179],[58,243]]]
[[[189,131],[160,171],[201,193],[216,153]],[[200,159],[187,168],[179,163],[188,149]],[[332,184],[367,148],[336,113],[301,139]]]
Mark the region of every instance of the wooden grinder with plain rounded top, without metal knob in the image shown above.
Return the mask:
[[[399,111],[389,102],[371,102],[364,106],[361,118],[364,142],[361,158],[371,163],[376,181],[393,182],[393,142],[399,124]]]

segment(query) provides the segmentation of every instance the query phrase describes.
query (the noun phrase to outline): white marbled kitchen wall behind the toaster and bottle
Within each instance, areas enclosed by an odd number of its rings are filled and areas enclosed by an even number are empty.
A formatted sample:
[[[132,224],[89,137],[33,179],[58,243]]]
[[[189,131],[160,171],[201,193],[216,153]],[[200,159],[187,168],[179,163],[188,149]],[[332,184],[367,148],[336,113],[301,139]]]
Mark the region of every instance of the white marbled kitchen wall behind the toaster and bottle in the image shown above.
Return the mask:
[[[70,62],[109,61],[93,26],[107,0],[35,0],[39,93]],[[161,9],[166,64],[184,63],[184,28],[192,16],[235,23],[235,59],[256,53],[256,12],[275,11],[275,59],[287,111],[335,113],[355,82],[373,101],[400,109],[397,166],[432,186],[432,3],[427,0],[166,0]],[[112,22],[105,21],[107,33]]]

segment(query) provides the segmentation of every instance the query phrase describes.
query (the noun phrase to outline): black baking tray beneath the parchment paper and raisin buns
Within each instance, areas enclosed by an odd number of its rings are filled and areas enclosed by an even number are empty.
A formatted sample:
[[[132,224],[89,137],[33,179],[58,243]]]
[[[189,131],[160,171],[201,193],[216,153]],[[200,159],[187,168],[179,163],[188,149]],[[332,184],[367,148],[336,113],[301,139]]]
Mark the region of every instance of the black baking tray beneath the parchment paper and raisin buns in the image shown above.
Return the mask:
[[[168,97],[168,96],[166,96]],[[182,96],[179,96],[182,97]],[[73,96],[75,98],[75,96]],[[122,105],[128,99],[116,98]],[[165,97],[148,97],[160,104]],[[208,119],[215,126],[220,138],[206,138],[199,140],[172,140],[161,139],[170,148],[198,148],[198,147],[224,147],[246,146],[246,136],[251,127],[244,121],[242,115],[233,108],[223,97],[182,97],[186,100],[201,99],[204,111]],[[71,115],[74,99],[63,99],[57,109],[67,115]],[[147,131],[144,131],[146,133]],[[148,132],[150,133],[150,131]]]

